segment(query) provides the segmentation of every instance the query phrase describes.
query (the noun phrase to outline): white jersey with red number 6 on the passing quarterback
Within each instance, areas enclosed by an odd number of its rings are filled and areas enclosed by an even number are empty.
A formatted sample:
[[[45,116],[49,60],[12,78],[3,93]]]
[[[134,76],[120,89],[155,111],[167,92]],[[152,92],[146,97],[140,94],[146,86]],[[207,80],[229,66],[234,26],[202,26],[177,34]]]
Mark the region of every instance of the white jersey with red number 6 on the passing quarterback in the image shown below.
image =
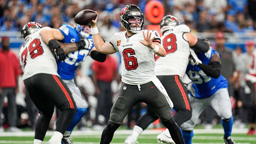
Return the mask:
[[[147,30],[144,31],[147,36]],[[154,73],[155,61],[154,52],[149,47],[140,43],[144,41],[142,31],[128,37],[126,31],[115,33],[110,40],[114,48],[120,52],[122,61],[122,81],[130,85],[148,83],[156,78]],[[153,42],[161,42],[159,34],[154,30],[151,38]]]

